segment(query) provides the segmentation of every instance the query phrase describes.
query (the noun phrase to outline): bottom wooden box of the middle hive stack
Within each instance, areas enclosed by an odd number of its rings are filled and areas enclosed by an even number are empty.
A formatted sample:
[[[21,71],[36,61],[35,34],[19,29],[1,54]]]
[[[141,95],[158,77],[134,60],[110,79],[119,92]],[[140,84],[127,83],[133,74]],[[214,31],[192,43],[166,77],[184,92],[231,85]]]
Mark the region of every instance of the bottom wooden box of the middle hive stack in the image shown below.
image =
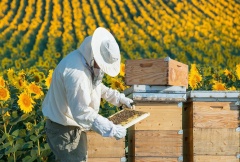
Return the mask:
[[[178,130],[131,129],[128,136],[129,162],[182,161],[182,138]]]

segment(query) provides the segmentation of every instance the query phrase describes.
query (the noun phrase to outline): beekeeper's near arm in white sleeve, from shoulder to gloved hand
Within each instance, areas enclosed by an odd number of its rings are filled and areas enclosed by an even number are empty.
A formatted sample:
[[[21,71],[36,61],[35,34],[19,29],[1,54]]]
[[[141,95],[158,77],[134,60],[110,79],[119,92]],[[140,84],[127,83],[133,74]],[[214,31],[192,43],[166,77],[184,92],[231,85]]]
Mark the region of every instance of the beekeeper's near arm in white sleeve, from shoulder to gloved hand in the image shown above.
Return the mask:
[[[104,137],[115,137],[116,139],[125,137],[125,128],[113,124],[89,107],[91,97],[88,78],[81,73],[77,76],[83,76],[81,81],[75,77],[66,77],[64,80],[65,83],[68,83],[66,85],[67,100],[74,120],[83,127],[92,126],[95,132]]]

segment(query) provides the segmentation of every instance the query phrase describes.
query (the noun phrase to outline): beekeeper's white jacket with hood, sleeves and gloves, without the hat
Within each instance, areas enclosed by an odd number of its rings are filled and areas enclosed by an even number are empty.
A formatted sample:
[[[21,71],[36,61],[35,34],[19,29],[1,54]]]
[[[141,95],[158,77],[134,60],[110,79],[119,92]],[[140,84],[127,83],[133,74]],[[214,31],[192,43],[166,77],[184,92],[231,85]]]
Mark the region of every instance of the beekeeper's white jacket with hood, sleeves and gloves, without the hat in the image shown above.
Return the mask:
[[[44,116],[61,125],[78,126],[82,130],[93,128],[103,136],[114,136],[116,130],[105,131],[106,127],[115,127],[114,124],[98,115],[101,98],[116,106],[130,106],[132,100],[106,87],[101,78],[93,84],[93,71],[89,69],[94,59],[91,43],[92,36],[85,38],[77,50],[58,64],[42,111]]]

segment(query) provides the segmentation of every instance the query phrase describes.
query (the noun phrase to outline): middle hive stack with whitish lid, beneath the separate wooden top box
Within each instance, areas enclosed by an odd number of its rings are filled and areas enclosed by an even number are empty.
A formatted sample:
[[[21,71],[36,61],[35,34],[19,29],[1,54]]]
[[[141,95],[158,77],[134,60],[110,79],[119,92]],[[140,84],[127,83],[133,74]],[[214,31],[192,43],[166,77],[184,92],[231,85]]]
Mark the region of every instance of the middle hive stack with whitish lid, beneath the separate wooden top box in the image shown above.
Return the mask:
[[[133,98],[136,110],[151,114],[129,129],[129,161],[181,161],[181,102],[186,99],[186,89],[177,86],[133,85],[125,94]]]

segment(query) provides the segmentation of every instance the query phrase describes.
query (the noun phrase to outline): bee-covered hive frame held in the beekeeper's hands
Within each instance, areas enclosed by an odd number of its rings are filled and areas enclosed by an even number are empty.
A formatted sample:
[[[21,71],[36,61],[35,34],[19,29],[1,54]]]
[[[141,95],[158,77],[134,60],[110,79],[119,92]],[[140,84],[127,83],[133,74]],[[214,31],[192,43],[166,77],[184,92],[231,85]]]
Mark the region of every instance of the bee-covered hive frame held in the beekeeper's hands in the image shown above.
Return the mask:
[[[124,128],[129,128],[136,123],[142,121],[150,115],[149,112],[136,111],[133,109],[125,108],[110,117],[108,119],[114,124],[121,124]]]

